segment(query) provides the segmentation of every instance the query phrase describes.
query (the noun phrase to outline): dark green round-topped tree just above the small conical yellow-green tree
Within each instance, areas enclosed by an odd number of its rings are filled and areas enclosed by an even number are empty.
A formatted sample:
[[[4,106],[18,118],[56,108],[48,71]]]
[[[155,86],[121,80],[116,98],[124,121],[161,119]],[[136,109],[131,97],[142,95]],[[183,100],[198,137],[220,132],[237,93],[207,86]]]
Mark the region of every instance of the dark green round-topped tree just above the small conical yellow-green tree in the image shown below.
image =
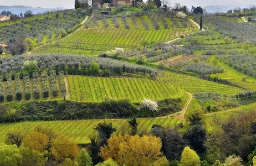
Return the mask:
[[[206,141],[206,129],[201,125],[194,125],[186,131],[184,138],[188,141],[192,149],[197,153],[204,153],[204,141]]]

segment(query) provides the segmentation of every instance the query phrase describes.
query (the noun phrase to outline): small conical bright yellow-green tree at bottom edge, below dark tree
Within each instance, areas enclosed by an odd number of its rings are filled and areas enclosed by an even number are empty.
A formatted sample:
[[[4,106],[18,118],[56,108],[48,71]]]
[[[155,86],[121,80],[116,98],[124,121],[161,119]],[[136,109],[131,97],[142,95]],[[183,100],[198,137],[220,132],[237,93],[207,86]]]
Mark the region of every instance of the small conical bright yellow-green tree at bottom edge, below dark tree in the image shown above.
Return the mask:
[[[199,166],[200,158],[190,147],[185,147],[181,154],[180,166]]]

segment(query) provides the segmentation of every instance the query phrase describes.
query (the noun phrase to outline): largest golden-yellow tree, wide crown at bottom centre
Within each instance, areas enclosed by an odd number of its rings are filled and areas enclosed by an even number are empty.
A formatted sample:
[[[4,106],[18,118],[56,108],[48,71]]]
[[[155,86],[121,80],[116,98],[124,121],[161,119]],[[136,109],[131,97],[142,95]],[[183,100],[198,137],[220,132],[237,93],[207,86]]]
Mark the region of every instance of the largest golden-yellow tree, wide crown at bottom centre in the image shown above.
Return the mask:
[[[155,136],[116,136],[107,141],[107,146],[101,147],[100,154],[120,165],[164,165],[168,161],[161,146],[160,138]]]

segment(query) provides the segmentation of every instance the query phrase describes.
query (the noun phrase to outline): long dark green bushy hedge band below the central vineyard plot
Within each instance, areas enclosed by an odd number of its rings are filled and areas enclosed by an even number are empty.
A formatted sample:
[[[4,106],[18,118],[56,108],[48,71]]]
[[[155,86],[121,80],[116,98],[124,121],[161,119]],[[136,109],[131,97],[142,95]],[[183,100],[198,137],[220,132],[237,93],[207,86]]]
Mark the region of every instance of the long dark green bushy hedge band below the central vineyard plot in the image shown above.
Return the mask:
[[[0,122],[35,120],[76,120],[164,116],[181,110],[181,99],[158,101],[158,111],[139,111],[129,100],[104,102],[49,101],[0,106]],[[12,113],[11,113],[12,112]]]

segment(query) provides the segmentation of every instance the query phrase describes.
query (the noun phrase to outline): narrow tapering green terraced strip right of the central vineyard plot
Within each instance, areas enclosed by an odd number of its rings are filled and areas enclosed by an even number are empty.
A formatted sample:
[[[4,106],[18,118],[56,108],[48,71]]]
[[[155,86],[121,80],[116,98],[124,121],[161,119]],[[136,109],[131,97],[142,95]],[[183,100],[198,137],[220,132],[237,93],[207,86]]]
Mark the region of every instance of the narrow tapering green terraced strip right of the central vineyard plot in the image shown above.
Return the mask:
[[[175,85],[188,92],[214,92],[223,95],[235,95],[244,91],[238,87],[218,84],[216,82],[174,72],[161,72],[158,74],[157,78],[165,84]]]

